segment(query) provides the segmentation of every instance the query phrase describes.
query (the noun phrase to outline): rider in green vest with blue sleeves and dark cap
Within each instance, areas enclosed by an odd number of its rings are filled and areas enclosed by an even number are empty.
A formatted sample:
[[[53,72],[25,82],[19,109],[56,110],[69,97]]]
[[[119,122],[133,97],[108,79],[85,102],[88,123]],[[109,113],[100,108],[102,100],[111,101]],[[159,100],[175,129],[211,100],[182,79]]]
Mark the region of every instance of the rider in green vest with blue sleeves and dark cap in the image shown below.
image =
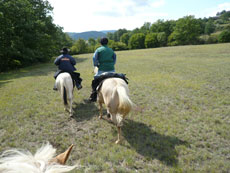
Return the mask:
[[[93,55],[93,65],[94,68],[98,68],[97,73],[94,75],[94,80],[92,81],[92,93],[89,100],[91,102],[96,102],[97,100],[97,91],[98,86],[97,78],[101,76],[104,72],[115,72],[116,64],[116,54],[114,51],[108,47],[108,38],[103,37],[100,40],[101,46],[96,49]]]

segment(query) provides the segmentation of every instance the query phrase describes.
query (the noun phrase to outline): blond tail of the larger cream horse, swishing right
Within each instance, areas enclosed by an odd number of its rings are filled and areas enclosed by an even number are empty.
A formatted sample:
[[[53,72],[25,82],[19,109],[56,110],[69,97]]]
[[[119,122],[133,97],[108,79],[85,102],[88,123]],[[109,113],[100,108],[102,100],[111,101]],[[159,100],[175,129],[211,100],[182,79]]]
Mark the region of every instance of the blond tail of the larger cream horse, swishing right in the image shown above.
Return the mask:
[[[133,102],[129,99],[126,88],[118,86],[116,90],[119,99],[118,112],[125,116],[131,111]]]

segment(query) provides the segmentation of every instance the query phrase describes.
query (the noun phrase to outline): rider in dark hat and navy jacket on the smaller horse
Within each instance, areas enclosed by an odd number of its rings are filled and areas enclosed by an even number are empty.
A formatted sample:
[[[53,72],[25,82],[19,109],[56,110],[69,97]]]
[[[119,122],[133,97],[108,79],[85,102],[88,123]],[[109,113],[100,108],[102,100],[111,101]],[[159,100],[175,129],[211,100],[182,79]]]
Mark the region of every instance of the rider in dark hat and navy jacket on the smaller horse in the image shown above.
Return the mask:
[[[75,81],[77,89],[80,90],[82,88],[82,79],[80,78],[80,73],[75,72],[77,70],[74,67],[74,65],[76,65],[75,59],[68,54],[69,49],[67,49],[66,47],[61,50],[61,53],[62,54],[54,61],[54,64],[58,66],[58,70],[54,74],[54,78],[56,79],[60,73],[68,72],[71,75],[73,81]],[[57,90],[56,82],[53,90]]]

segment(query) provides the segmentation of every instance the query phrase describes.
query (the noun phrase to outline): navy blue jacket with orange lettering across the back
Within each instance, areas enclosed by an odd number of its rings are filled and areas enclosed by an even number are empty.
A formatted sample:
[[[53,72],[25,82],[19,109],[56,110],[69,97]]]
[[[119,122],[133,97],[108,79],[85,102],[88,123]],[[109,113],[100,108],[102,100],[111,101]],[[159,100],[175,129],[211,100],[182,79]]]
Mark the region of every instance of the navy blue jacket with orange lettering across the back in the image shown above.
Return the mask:
[[[54,64],[58,65],[58,69],[62,71],[73,72],[77,70],[74,67],[74,65],[76,64],[75,59],[68,54],[62,54],[59,57],[57,57],[54,61]]]

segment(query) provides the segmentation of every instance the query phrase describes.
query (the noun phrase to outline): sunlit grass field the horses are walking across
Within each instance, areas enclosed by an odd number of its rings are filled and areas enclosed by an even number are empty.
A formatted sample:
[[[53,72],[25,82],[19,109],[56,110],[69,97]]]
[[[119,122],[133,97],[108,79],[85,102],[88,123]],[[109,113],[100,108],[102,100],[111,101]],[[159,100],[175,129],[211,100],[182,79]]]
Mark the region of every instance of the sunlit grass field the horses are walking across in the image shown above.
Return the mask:
[[[0,152],[32,152],[49,141],[58,152],[74,144],[73,172],[230,172],[230,44],[117,53],[136,104],[114,144],[116,127],[86,103],[92,54],[75,56],[83,89],[74,118],[52,90],[52,63],[0,74]]]

